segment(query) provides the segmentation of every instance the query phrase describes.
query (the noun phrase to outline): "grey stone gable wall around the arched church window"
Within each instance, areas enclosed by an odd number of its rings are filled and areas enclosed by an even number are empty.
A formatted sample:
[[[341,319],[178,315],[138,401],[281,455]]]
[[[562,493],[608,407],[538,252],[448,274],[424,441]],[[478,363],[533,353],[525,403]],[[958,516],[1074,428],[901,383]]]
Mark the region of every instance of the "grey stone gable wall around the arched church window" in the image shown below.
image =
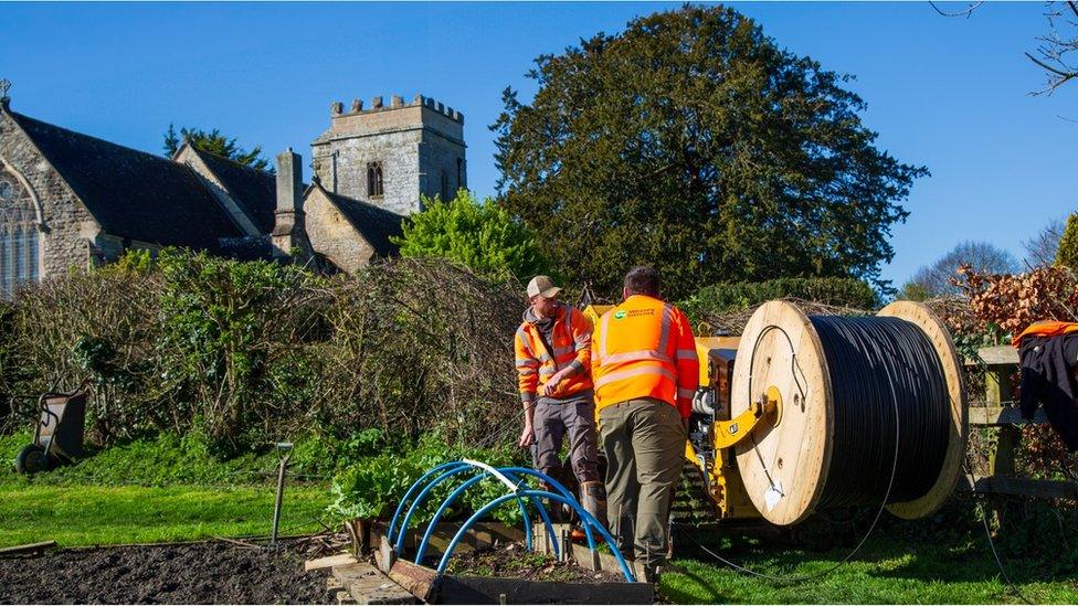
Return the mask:
[[[86,269],[94,256],[110,255],[99,241],[101,225],[60,173],[38,152],[14,119],[0,108],[0,162],[9,174],[18,172],[41,204],[44,220],[39,273],[42,278]],[[96,253],[96,255],[95,255]]]

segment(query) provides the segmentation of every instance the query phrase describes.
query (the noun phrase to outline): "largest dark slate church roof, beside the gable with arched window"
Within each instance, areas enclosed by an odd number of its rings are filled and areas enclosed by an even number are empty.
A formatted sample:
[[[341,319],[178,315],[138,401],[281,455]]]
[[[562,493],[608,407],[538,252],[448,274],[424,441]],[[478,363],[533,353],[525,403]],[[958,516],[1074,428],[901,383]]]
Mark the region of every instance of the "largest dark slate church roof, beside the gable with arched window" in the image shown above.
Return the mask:
[[[219,248],[219,238],[244,235],[190,167],[10,115],[105,233],[211,251]]]

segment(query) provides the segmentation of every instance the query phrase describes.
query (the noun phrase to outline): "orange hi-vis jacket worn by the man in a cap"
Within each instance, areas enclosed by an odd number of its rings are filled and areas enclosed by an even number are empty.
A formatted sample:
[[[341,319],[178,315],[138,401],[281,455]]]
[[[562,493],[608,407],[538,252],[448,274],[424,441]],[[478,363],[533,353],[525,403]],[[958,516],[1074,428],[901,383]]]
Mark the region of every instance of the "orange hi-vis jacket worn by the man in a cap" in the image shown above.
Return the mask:
[[[547,380],[567,366],[572,366],[573,372],[554,387],[551,397],[568,397],[592,389],[588,373],[591,365],[591,320],[577,308],[562,305],[554,318],[550,343],[543,342],[542,332],[535,321],[535,312],[529,309],[512,340],[520,400],[535,401]]]

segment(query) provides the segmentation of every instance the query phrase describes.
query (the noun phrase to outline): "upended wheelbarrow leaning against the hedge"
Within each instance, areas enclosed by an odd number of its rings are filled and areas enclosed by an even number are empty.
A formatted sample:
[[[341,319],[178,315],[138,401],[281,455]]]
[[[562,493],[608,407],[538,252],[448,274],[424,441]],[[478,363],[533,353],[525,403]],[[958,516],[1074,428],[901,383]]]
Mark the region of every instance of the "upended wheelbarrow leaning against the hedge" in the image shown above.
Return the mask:
[[[34,442],[15,456],[17,471],[32,475],[83,456],[86,396],[83,383],[72,393],[50,392],[38,398],[41,416],[34,426]]]

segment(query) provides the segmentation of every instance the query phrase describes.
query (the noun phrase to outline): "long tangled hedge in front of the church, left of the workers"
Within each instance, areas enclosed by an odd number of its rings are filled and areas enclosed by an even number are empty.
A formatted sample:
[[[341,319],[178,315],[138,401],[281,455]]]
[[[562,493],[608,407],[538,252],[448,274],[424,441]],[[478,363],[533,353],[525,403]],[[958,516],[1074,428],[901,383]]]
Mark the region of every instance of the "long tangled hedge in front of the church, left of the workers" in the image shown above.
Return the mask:
[[[517,286],[517,288],[519,288]],[[234,456],[279,439],[416,439],[438,427],[496,444],[516,424],[511,338],[521,301],[436,259],[353,277],[165,251],[21,290],[0,309],[0,390],[88,379],[88,437],[198,432]],[[10,363],[9,363],[10,362]],[[33,400],[17,400],[30,413]]]

